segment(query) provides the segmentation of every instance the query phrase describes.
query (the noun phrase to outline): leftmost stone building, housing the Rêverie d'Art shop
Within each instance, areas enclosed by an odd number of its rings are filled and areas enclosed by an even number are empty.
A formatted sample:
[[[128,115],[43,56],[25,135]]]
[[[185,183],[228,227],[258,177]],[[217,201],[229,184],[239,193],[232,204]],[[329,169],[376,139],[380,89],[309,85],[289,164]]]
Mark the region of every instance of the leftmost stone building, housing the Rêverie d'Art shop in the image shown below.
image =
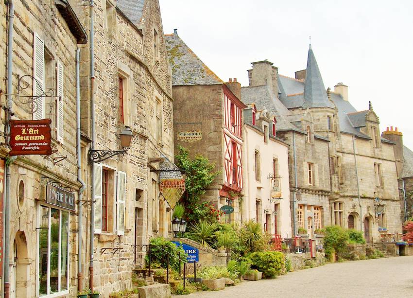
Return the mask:
[[[80,188],[76,160],[76,51],[87,36],[70,5],[72,1],[13,2],[14,18],[8,17],[10,2],[0,4],[1,105],[6,100],[4,94],[12,94],[13,120],[50,119],[53,151],[48,156],[14,159],[7,157],[8,149],[1,146],[1,158],[12,162],[10,197],[5,198],[10,199],[6,210],[10,214],[10,238],[4,240],[9,247],[10,267],[4,270],[9,272],[10,297],[72,297],[77,293]],[[7,40],[11,19],[13,38]],[[6,51],[8,41],[13,44],[13,53]],[[5,58],[9,56],[13,63],[12,88],[8,90]],[[2,109],[2,124],[6,123],[5,117]],[[4,172],[3,167],[0,172]],[[56,194],[68,195],[68,203],[58,203]],[[4,236],[3,227],[4,223]]]

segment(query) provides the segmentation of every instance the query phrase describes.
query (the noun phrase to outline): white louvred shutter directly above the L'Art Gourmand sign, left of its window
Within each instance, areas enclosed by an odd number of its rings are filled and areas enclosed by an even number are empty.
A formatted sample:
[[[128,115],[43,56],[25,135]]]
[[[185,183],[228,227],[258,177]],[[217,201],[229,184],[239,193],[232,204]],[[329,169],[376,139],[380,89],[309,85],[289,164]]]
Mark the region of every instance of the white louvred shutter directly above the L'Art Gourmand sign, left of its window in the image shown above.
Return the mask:
[[[44,70],[44,42],[34,33],[33,44],[33,96],[42,95],[45,82],[45,70]],[[45,104],[44,98],[40,97],[35,100],[37,109],[33,114],[33,120],[40,120],[45,118]]]

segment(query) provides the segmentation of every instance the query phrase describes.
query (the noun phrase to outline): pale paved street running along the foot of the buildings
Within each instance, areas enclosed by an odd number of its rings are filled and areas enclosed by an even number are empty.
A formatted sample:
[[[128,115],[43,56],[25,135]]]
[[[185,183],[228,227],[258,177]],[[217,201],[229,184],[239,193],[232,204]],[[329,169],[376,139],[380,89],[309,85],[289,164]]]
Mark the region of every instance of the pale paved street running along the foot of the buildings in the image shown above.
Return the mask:
[[[275,280],[244,281],[223,291],[197,292],[186,297],[413,297],[413,257],[326,264],[291,272]]]

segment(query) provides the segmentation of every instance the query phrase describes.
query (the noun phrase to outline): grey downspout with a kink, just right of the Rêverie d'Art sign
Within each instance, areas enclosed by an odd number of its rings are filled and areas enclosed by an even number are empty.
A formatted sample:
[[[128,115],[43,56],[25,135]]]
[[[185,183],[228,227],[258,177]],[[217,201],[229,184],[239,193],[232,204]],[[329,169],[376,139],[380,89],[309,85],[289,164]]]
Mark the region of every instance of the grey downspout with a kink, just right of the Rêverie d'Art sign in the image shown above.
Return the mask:
[[[82,185],[78,194],[78,248],[77,248],[77,289],[82,291],[82,193],[86,189],[85,182],[81,175],[80,156],[80,48],[76,50],[76,150],[77,150],[77,181]]]

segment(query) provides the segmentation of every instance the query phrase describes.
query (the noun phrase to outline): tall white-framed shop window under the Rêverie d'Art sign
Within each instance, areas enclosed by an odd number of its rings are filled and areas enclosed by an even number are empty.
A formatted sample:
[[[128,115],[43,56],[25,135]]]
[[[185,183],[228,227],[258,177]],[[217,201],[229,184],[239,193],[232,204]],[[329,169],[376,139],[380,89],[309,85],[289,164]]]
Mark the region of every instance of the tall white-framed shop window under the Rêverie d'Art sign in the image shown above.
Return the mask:
[[[69,294],[69,212],[39,206],[37,295]]]

